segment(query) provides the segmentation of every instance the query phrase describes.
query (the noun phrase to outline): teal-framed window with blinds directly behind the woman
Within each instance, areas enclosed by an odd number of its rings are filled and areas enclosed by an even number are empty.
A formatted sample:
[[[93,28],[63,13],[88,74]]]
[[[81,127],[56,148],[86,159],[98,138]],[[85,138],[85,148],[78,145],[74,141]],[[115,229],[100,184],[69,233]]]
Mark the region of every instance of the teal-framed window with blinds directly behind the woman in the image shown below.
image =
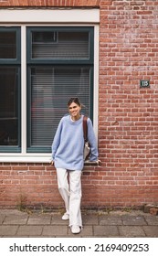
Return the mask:
[[[50,152],[70,97],[92,119],[93,28],[27,28],[27,152]]]

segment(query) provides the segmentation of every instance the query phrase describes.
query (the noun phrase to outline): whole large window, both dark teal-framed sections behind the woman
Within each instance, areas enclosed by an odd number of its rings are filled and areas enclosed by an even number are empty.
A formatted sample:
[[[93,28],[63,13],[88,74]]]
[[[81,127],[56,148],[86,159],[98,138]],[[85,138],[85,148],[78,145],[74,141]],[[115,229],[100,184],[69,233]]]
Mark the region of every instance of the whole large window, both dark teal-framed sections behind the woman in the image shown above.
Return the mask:
[[[0,28],[0,151],[4,153],[22,151],[21,40],[20,27]],[[50,153],[70,97],[79,97],[82,112],[93,120],[93,64],[93,27],[26,27],[27,154]]]

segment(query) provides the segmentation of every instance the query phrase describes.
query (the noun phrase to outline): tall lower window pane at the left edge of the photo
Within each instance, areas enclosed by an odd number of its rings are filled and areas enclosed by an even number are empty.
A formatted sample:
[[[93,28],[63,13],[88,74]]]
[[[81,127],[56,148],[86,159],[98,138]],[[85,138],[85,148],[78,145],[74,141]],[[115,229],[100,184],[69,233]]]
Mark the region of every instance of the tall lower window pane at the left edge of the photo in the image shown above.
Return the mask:
[[[0,145],[17,145],[17,69],[0,68]]]

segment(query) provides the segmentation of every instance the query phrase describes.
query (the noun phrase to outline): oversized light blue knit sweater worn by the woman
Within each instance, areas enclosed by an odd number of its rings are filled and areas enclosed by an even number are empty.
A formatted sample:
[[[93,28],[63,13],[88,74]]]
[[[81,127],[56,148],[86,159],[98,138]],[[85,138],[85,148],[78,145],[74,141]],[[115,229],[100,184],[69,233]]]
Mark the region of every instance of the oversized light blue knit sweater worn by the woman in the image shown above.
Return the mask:
[[[83,115],[73,122],[70,115],[64,116],[58,123],[58,129],[52,143],[52,160],[56,168],[82,170],[84,165]],[[88,123],[88,140],[90,142],[90,161],[98,159],[95,134],[90,118]]]

